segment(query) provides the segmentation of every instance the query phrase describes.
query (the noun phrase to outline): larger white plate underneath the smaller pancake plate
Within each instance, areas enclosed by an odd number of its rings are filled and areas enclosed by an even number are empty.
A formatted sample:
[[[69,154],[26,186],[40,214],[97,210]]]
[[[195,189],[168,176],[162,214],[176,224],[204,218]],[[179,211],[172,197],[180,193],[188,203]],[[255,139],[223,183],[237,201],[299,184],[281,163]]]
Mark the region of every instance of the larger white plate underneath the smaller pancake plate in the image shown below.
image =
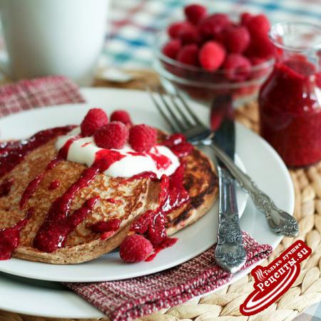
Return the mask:
[[[119,101],[123,101],[123,96],[126,96],[126,101],[130,102],[133,108],[149,104],[146,94],[138,91],[126,91],[126,95],[123,91],[101,88],[84,89],[82,92],[91,106],[108,105],[111,109],[120,108],[122,105]],[[106,103],[108,101],[116,103]],[[126,106],[128,106],[127,103]],[[205,108],[200,108],[199,111],[202,116],[204,115],[203,117],[206,117]],[[153,116],[152,107],[148,115]],[[150,118],[148,123],[155,124],[156,120]],[[46,127],[47,123],[42,125]],[[25,126],[23,121],[21,126]],[[2,126],[1,129],[4,130]],[[243,126],[237,126],[236,135],[237,153],[245,164],[248,174],[280,208],[292,213],[294,208],[292,181],[280,157],[262,138]],[[265,218],[253,208],[251,202],[248,202],[240,222],[243,230],[253,235],[259,243],[270,244],[275,248],[282,240],[282,237],[268,230]],[[238,272],[231,282],[239,280],[252,268]],[[29,280],[5,273],[0,273],[0,309],[44,317],[98,318],[103,316],[81,297],[58,283]]]

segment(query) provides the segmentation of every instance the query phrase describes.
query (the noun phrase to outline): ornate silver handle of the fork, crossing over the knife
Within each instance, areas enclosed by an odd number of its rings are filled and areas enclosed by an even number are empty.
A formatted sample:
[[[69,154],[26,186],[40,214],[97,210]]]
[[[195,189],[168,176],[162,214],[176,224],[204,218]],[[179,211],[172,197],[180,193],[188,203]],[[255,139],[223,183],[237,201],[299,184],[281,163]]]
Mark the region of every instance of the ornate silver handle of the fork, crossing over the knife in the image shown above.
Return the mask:
[[[238,166],[235,165],[234,162],[230,160],[230,158],[218,146],[213,144],[213,142],[211,142],[210,145],[206,145],[213,149],[215,155],[220,159],[220,161],[222,161],[222,163],[224,163],[226,168],[228,168],[240,187],[248,192],[255,207],[265,215],[270,230],[280,235],[291,237],[297,236],[299,233],[297,220],[295,220],[295,218],[289,213],[277,208],[271,198],[260,190],[258,185],[256,185],[250,176],[245,174],[243,170],[240,170],[240,168],[238,168]]]

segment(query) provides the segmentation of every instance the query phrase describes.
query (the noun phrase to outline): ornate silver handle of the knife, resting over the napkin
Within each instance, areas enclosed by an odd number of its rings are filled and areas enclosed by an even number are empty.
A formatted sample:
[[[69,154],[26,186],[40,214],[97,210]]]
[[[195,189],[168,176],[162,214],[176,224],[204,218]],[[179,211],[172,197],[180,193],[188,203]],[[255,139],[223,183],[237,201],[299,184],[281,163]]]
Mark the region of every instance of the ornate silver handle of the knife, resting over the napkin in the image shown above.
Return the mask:
[[[224,165],[218,165],[220,208],[218,210],[218,244],[215,261],[228,272],[235,273],[245,264],[246,252],[240,230],[235,180]]]

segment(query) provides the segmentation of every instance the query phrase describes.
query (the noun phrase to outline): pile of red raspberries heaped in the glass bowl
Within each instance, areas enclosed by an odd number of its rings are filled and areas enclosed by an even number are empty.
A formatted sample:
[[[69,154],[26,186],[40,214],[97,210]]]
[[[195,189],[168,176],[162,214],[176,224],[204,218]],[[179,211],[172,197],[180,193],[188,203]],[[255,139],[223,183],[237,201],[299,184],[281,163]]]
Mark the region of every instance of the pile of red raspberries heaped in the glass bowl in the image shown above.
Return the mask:
[[[228,81],[244,81],[251,66],[275,56],[267,31],[270,22],[264,14],[244,12],[240,21],[227,14],[208,14],[200,4],[185,6],[185,21],[168,26],[170,41],[163,54],[205,71],[223,70]]]

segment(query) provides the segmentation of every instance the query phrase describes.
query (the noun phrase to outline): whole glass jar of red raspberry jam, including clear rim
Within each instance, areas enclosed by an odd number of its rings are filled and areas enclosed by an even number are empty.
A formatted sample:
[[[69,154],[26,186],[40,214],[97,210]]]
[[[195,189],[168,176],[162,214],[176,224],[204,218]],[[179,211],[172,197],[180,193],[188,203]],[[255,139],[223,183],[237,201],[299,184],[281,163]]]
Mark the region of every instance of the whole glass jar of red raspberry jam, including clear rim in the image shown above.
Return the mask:
[[[259,94],[260,133],[288,166],[321,160],[321,28],[272,26],[276,61]]]

